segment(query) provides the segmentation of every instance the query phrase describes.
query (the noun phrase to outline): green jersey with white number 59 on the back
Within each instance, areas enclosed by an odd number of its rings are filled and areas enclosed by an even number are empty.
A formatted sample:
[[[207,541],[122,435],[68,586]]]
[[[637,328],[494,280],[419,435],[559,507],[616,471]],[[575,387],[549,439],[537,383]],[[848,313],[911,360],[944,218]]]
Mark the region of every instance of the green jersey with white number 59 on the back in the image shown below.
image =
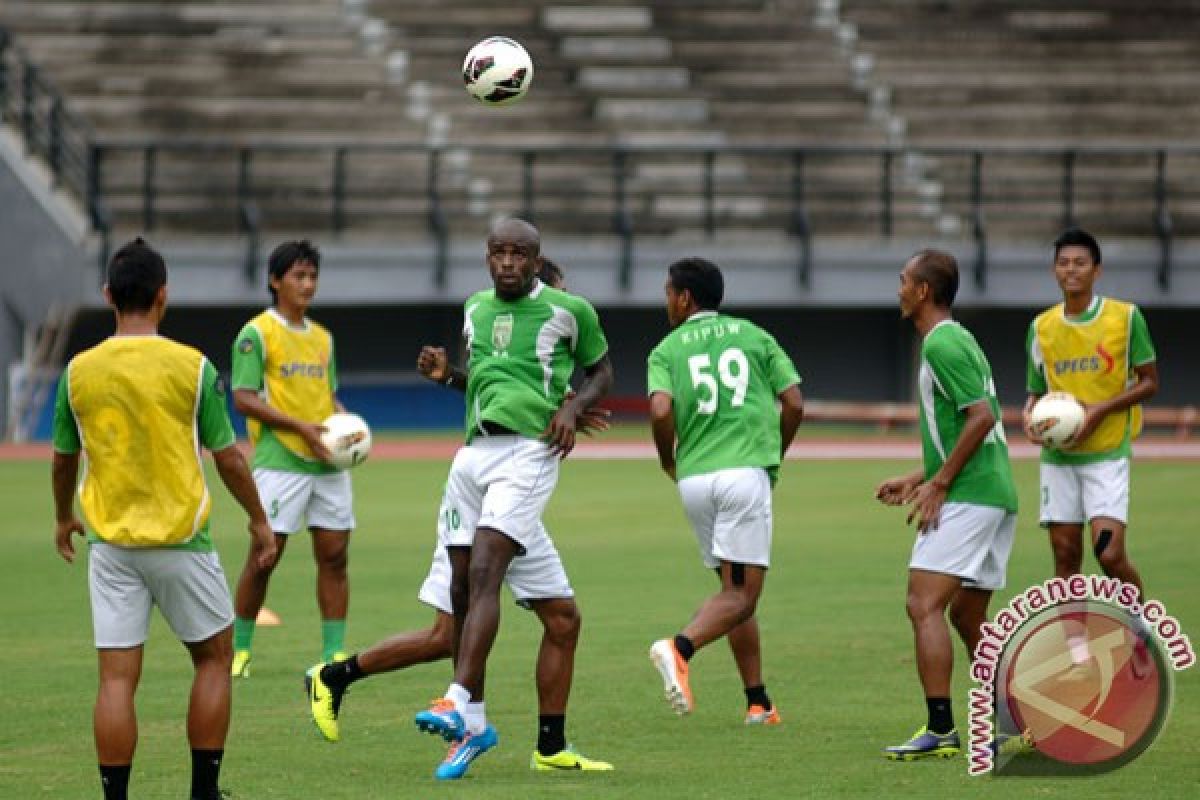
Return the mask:
[[[792,360],[754,323],[702,311],[671,331],[647,360],[647,393],[674,407],[676,476],[762,467],[779,471],[775,399],[800,383]]]

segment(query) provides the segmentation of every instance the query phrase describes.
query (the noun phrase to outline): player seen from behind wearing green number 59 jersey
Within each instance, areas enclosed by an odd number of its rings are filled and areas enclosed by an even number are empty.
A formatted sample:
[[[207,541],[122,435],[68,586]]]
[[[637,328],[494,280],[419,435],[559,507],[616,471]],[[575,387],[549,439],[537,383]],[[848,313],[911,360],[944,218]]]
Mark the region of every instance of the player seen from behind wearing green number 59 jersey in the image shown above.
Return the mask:
[[[673,639],[655,642],[650,661],[667,702],[690,714],[688,662],[727,637],[745,687],[746,724],[778,724],[762,680],[755,608],[770,564],[770,492],[804,398],[774,337],[718,311],[724,295],[721,271],[710,261],[686,258],[667,267],[673,330],[647,361],[650,426],[659,463],[678,482],[701,560],[716,571],[721,590]]]

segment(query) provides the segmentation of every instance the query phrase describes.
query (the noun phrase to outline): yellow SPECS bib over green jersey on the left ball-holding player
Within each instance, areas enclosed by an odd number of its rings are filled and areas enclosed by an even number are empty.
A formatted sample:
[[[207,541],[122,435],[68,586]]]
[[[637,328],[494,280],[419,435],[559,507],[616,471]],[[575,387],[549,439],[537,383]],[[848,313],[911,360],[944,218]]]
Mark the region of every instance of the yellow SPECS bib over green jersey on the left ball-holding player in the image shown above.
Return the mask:
[[[337,366],[334,337],[305,319],[294,326],[274,308],[246,323],[233,345],[233,387],[258,392],[265,403],[305,422],[323,422],[334,413]],[[258,420],[246,421],[254,444],[254,468],[306,475],[337,471],[313,455],[305,440]]]

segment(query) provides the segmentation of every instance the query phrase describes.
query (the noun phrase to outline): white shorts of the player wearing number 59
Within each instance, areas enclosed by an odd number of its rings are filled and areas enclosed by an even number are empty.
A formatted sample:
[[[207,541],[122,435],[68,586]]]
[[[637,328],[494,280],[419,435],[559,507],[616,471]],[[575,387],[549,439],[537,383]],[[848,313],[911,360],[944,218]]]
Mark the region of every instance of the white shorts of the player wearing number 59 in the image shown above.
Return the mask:
[[[704,566],[770,566],[770,479],[761,467],[722,469],[679,481],[679,497]]]

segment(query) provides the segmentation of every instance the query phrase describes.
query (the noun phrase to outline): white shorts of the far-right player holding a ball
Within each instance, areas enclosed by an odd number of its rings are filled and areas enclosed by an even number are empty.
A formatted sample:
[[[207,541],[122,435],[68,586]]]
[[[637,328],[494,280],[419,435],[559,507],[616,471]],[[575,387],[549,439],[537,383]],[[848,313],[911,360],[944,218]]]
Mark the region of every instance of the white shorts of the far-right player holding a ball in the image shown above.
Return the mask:
[[[1094,464],[1042,464],[1042,525],[1129,518],[1129,459]]]

